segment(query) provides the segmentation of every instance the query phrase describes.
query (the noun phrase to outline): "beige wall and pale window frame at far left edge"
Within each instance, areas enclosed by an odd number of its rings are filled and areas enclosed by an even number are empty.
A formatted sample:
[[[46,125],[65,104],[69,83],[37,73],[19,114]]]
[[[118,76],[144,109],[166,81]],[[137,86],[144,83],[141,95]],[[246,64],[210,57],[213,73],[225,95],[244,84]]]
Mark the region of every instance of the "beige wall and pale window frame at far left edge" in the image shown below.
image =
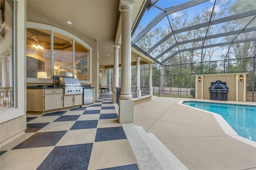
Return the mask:
[[[14,94],[16,106],[0,113],[0,146],[24,134],[26,129],[26,1],[17,0],[15,3]]]

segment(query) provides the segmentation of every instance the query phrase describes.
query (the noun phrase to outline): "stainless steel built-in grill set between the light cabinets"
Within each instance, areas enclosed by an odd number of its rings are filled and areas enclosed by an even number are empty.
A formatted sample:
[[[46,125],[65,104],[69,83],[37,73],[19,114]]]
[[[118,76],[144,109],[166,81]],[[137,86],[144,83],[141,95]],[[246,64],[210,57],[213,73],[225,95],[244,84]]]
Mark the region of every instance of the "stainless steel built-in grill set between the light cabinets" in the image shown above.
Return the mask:
[[[60,86],[64,87],[64,95],[83,93],[83,87],[77,78],[60,77]]]

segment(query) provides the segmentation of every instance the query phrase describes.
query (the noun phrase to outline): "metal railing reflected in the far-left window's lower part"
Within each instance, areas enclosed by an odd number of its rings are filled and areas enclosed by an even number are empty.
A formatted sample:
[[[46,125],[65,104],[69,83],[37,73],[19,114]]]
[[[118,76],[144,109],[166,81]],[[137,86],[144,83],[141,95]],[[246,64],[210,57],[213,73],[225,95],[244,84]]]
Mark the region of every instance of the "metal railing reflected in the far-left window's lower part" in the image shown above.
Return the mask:
[[[0,110],[13,107],[13,88],[0,88]]]

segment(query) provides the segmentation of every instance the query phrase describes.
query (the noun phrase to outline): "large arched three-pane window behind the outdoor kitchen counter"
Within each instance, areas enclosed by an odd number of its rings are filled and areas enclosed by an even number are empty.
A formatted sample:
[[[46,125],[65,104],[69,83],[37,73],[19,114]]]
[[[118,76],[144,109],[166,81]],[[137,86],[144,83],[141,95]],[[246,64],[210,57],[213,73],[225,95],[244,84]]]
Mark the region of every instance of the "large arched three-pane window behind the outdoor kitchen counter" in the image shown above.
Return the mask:
[[[90,46],[64,30],[27,22],[27,83],[52,83],[53,75],[60,75],[77,77],[80,83],[91,84],[90,51]]]

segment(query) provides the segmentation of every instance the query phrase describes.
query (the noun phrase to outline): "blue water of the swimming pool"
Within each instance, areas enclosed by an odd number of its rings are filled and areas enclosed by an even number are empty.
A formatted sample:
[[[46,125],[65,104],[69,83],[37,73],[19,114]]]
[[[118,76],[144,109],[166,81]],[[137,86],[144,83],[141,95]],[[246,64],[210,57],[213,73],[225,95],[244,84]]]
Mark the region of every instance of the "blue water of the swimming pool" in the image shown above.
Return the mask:
[[[184,101],[182,104],[221,115],[239,136],[256,142],[256,106]]]

